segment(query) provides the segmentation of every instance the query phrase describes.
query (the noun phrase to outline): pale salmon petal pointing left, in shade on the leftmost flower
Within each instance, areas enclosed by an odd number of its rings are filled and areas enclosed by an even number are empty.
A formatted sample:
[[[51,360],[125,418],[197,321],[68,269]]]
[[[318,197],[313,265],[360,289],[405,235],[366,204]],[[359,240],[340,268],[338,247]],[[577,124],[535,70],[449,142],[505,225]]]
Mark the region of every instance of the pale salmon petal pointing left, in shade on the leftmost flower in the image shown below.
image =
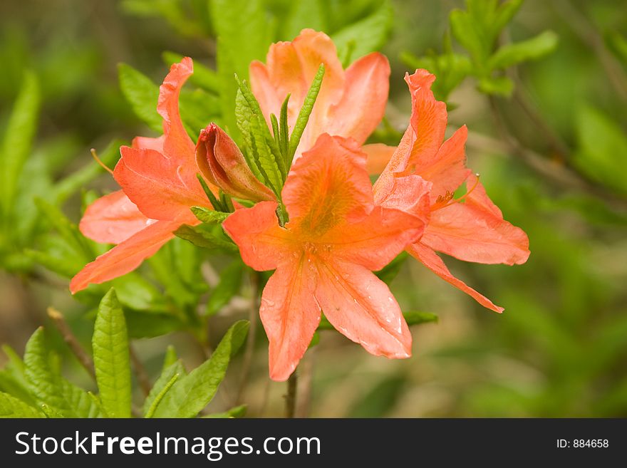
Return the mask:
[[[122,190],[100,197],[90,204],[78,228],[84,236],[102,244],[120,244],[154,223]]]

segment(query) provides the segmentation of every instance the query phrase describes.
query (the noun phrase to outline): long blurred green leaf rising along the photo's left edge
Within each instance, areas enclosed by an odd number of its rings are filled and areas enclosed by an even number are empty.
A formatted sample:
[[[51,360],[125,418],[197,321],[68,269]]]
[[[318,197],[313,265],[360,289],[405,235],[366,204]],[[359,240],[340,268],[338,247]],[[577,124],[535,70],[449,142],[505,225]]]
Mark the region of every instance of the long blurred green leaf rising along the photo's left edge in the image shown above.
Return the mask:
[[[0,199],[2,211],[6,216],[13,209],[21,170],[31,152],[33,137],[37,130],[40,100],[37,78],[34,73],[27,71],[24,73],[9,122],[6,123],[0,147],[0,167],[2,167]]]

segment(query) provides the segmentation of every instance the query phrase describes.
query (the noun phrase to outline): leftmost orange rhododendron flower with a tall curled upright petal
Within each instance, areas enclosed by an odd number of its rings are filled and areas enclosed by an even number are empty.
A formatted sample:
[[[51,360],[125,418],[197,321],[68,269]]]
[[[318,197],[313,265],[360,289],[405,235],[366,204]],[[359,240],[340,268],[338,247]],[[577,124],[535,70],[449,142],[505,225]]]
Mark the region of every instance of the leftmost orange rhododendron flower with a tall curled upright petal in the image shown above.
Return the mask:
[[[197,180],[194,142],[179,115],[180,89],[191,74],[191,58],[172,65],[157,104],[163,135],[136,137],[131,147],[121,147],[113,177],[122,190],[86,209],[81,232],[95,241],[117,245],[74,276],[72,293],[133,271],[172,239],[181,224],[199,223],[190,207],[211,206]]]

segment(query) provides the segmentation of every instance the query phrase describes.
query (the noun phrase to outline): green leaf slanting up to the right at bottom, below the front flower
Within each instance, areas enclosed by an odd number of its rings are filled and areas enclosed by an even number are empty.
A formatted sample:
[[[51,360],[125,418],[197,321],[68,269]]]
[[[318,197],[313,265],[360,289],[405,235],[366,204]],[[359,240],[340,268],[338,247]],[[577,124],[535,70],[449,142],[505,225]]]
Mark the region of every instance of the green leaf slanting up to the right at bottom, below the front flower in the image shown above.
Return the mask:
[[[155,410],[155,417],[195,417],[212,400],[227,372],[229,360],[244,343],[249,323],[229,328],[209,360],[178,379]]]

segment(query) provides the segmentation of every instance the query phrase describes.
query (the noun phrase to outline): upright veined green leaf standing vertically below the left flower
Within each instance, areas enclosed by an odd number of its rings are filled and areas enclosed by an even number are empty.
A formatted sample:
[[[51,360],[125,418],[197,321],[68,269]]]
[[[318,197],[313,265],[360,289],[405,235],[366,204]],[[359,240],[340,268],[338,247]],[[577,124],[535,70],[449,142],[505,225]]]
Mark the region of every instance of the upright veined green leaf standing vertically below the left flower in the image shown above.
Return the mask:
[[[98,307],[93,363],[100,401],[109,417],[130,417],[130,358],[124,312],[111,288]]]

